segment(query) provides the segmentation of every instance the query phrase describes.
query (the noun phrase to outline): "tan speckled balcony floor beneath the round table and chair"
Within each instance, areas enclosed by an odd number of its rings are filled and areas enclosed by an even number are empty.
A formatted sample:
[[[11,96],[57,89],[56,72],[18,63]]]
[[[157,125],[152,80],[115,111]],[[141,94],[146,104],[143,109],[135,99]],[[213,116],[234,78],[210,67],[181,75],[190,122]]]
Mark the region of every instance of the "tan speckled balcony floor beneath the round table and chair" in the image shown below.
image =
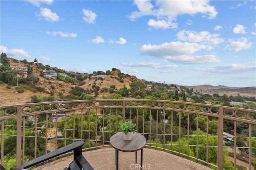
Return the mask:
[[[137,154],[137,163],[140,163],[140,151]],[[83,152],[83,155],[90,162],[94,170],[116,169],[115,150],[112,147],[86,151]],[[62,170],[72,162],[72,159],[73,156],[61,158],[34,170]],[[135,152],[119,152],[119,170],[139,169],[134,164]],[[196,162],[153,149],[143,149],[143,166],[144,169],[150,170],[211,170],[211,168]]]

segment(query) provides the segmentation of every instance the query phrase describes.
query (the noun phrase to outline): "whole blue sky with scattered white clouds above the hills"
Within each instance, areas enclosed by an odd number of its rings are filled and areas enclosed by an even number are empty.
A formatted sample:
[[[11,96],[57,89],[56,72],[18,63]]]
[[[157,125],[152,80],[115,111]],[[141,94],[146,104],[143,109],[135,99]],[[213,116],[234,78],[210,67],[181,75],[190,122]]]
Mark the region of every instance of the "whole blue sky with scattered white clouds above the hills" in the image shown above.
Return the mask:
[[[0,1],[0,51],[147,81],[256,86],[256,1]]]

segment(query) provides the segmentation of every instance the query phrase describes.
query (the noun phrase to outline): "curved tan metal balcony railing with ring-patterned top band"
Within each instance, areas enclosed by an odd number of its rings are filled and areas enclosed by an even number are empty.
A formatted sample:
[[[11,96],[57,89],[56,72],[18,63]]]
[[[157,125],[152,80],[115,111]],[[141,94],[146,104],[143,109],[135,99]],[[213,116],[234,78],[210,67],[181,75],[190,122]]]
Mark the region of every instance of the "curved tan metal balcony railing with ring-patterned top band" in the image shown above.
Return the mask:
[[[256,140],[252,134],[252,128],[256,125],[256,110],[252,109],[122,99],[0,106],[0,114],[2,165],[7,154],[4,147],[8,145],[4,145],[4,140],[13,135],[7,134],[5,129],[16,130],[16,166],[20,166],[25,163],[28,154],[27,142],[32,141],[34,158],[40,156],[38,154],[42,150],[49,152],[49,142],[54,144],[55,149],[78,140],[87,142],[84,150],[109,146],[110,137],[118,132],[118,122],[126,120],[136,123],[137,132],[147,139],[146,147],[169,151],[218,169],[224,168],[228,148],[234,150],[234,169],[239,154],[237,148],[248,155],[248,167],[252,169],[252,149],[256,149],[252,147],[252,142]],[[233,137],[224,133],[230,125],[234,127]],[[237,133],[241,127],[247,129],[246,136]],[[34,129],[34,134],[27,134],[28,129]],[[248,146],[241,149],[238,145],[240,139]],[[225,141],[234,142],[234,145],[226,146]]]

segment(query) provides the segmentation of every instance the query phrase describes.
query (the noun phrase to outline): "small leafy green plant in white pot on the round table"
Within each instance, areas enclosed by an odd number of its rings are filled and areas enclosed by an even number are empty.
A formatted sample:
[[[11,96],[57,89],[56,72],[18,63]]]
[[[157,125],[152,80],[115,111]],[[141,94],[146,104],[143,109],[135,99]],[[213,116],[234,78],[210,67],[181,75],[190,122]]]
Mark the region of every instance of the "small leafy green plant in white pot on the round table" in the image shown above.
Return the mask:
[[[124,132],[124,140],[130,141],[132,139],[132,133],[136,132],[136,123],[132,121],[120,122],[118,129]]]

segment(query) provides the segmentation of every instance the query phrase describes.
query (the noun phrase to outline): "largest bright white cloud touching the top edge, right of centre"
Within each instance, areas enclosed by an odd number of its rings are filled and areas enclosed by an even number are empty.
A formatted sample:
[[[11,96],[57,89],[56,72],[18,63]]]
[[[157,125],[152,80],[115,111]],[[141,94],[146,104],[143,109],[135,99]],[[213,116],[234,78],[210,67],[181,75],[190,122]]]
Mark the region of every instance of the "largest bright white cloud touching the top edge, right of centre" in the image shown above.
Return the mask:
[[[209,1],[156,1],[154,7],[149,0],[135,0],[134,4],[137,6],[138,11],[130,14],[130,20],[136,20],[143,16],[152,16],[157,19],[150,19],[148,25],[154,28],[177,28],[177,16],[189,14],[191,16],[202,13],[208,14],[209,19],[217,16],[218,12],[214,6],[209,5]],[[189,23],[188,23],[189,24]]]

